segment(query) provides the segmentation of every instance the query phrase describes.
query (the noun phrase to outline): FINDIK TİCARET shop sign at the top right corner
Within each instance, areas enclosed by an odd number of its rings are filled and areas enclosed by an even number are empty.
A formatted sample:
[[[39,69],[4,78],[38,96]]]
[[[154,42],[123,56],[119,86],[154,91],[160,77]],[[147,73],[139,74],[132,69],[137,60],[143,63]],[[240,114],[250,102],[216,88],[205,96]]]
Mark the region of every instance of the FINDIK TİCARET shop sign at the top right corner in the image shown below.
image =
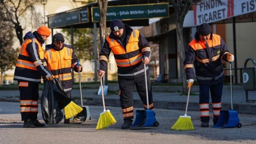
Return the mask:
[[[194,25],[256,11],[256,0],[201,0],[193,5]]]

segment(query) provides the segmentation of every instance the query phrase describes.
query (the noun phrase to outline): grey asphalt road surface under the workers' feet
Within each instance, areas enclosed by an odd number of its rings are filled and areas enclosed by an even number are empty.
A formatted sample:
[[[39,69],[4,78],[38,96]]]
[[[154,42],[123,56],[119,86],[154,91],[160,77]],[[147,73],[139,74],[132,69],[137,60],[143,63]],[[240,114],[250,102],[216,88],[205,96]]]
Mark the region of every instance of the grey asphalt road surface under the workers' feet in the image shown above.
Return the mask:
[[[120,129],[123,122],[120,107],[106,106],[117,123],[96,130],[99,113],[103,109],[102,106],[88,106],[92,120],[71,124],[63,124],[62,120],[42,128],[23,128],[19,103],[0,101],[0,143],[256,143],[255,114],[238,114],[241,128],[212,128],[212,121],[210,127],[202,128],[198,111],[189,111],[187,114],[191,116],[195,129],[179,131],[170,127],[184,111],[156,108],[156,119],[160,125],[130,130]],[[38,119],[44,122],[40,109]]]

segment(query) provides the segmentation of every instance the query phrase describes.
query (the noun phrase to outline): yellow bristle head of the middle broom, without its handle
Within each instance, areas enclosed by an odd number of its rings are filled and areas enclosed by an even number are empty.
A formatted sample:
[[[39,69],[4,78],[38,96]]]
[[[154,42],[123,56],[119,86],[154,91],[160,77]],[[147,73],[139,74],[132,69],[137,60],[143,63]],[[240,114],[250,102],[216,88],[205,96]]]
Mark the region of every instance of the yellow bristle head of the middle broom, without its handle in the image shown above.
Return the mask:
[[[112,113],[107,109],[99,114],[96,129],[102,129],[114,123],[116,123],[116,120]]]

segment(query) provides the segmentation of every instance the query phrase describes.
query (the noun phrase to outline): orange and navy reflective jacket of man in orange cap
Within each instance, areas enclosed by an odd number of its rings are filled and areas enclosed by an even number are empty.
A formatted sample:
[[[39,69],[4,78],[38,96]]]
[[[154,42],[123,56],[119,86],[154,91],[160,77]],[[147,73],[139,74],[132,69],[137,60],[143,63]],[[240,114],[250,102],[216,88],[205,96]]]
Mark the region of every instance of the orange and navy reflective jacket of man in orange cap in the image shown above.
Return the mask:
[[[43,52],[44,48],[36,38],[25,39],[19,48],[13,79],[40,83],[41,75],[49,73],[44,67]]]

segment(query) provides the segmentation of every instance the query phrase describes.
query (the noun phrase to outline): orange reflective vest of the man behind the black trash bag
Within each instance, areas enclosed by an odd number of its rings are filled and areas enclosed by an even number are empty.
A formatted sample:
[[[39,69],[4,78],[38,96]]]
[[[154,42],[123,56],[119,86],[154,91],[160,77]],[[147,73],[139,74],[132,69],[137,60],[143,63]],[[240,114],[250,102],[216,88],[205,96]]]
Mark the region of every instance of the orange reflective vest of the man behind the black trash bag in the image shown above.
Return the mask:
[[[77,64],[77,57],[73,54],[73,49],[64,44],[62,49],[56,50],[52,48],[52,44],[48,44],[44,58],[51,73],[61,80],[63,90],[70,91],[72,89],[71,68]]]

